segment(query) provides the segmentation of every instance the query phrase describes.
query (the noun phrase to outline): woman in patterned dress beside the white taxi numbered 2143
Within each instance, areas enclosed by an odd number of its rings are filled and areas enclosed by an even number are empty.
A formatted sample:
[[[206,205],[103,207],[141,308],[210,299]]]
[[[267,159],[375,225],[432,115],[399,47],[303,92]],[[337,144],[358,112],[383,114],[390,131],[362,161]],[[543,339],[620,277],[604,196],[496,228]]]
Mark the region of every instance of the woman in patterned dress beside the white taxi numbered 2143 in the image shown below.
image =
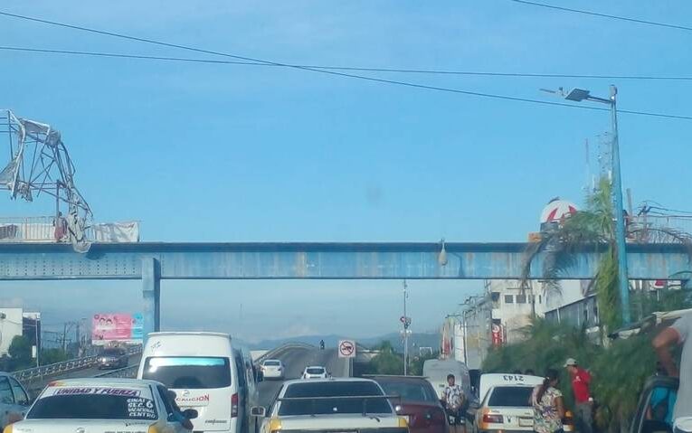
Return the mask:
[[[564,418],[563,393],[557,389],[560,376],[555,369],[545,371],[543,384],[531,393],[536,433],[562,433]]]

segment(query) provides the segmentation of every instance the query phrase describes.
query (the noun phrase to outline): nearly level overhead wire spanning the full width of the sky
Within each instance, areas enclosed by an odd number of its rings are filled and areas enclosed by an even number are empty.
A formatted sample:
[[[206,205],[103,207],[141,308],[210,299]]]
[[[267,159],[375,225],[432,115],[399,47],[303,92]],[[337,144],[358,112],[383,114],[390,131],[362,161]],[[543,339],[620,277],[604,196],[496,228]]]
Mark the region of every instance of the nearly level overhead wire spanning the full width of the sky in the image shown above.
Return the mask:
[[[118,52],[84,52],[74,50],[53,50],[46,48],[30,48],[16,46],[0,46],[2,51],[14,52],[34,52],[44,54],[66,54],[90,57],[106,57],[116,59],[136,59],[147,61],[180,61],[189,63],[209,63],[222,65],[243,65],[243,66],[265,66],[283,67],[283,65],[271,63],[259,63],[256,61],[222,61],[213,59],[194,59],[189,57],[154,56],[147,54],[127,54]],[[399,69],[399,68],[370,68],[355,66],[334,66],[334,65],[315,65],[315,64],[295,64],[291,66],[319,69],[327,71],[363,71],[363,72],[393,72],[393,73],[412,73],[412,74],[431,74],[431,75],[464,75],[481,77],[517,77],[517,78],[565,78],[565,79],[592,79],[592,80],[672,80],[672,81],[692,81],[692,76],[673,76],[673,75],[600,75],[600,74],[564,74],[564,73],[536,73],[536,72],[496,72],[496,71],[443,71],[428,69]]]

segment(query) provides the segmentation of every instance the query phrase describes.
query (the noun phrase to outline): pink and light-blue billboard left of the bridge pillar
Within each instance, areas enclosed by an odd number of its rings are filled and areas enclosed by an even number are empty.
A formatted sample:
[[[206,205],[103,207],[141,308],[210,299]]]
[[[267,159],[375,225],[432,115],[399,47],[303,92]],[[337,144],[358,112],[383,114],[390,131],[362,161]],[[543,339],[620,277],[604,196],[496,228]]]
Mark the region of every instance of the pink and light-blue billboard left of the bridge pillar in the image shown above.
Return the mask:
[[[91,319],[91,344],[141,344],[144,340],[141,313],[103,313]]]

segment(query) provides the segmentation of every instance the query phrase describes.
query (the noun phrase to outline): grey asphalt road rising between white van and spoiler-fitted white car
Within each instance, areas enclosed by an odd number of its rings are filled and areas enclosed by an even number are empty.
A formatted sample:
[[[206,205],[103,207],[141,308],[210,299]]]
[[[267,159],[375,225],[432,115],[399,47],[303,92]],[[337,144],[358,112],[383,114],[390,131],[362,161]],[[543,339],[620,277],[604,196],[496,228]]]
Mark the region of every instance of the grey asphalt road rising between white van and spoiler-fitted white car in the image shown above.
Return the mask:
[[[321,365],[334,377],[347,377],[349,374],[348,360],[339,358],[337,349],[291,348],[276,356],[286,366],[286,380],[299,379],[308,365]],[[280,390],[283,381],[266,380],[258,385],[260,405],[267,407]]]

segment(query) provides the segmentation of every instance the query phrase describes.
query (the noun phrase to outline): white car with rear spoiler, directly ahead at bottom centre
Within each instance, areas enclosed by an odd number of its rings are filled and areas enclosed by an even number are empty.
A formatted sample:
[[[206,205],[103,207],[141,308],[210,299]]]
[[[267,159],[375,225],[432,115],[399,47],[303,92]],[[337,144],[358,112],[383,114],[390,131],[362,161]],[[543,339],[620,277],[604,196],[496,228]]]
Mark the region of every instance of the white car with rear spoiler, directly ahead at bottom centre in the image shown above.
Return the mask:
[[[380,385],[369,379],[286,381],[270,409],[252,408],[252,414],[263,417],[260,433],[409,431]]]

